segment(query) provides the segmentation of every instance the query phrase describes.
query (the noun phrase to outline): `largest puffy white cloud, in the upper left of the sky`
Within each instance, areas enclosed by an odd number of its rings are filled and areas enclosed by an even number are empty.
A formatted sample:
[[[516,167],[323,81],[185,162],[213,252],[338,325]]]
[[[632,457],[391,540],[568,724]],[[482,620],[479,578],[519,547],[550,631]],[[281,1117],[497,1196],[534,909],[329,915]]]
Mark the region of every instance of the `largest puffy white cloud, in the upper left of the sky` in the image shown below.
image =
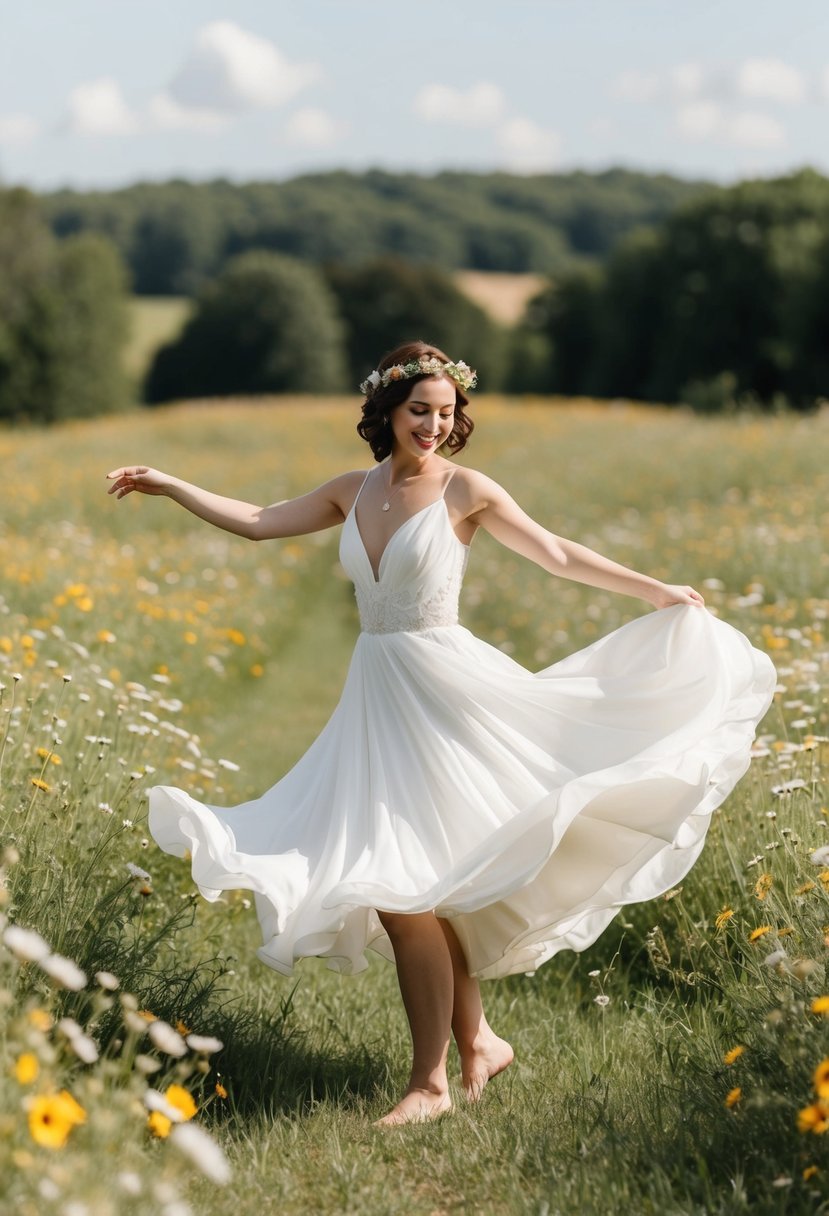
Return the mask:
[[[292,63],[275,43],[232,21],[214,21],[170,84],[169,94],[187,109],[235,113],[284,105],[321,75],[315,63]]]

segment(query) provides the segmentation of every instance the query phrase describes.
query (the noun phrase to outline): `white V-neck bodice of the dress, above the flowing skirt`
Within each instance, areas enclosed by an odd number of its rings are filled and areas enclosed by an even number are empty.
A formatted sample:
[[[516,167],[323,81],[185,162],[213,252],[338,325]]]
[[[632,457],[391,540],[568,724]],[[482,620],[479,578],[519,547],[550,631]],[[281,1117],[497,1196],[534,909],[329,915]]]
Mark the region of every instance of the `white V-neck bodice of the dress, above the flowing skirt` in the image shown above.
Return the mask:
[[[468,554],[440,497],[393,533],[374,578],[351,507],[343,524],[339,559],[354,582],[363,632],[419,632],[457,625]]]

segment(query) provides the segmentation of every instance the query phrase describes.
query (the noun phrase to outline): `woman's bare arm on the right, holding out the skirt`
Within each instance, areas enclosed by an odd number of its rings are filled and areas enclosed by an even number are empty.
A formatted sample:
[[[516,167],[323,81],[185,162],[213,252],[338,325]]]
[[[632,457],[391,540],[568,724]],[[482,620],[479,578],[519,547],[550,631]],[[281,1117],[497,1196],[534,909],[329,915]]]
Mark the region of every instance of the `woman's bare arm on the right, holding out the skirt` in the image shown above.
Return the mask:
[[[507,548],[529,558],[551,574],[586,582],[603,591],[617,591],[645,599],[654,608],[670,604],[701,604],[699,591],[661,582],[619,562],[603,557],[586,545],[557,536],[523,511],[514,499],[491,478],[472,473],[464,478],[470,506],[467,518],[495,536]]]

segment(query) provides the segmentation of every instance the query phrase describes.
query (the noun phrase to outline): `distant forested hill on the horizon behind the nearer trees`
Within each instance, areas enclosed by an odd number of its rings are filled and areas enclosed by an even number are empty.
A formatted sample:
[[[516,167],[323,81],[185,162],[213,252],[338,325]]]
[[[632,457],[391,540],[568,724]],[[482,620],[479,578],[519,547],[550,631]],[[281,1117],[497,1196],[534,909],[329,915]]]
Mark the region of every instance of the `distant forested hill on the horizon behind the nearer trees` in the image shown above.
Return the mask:
[[[108,235],[139,294],[192,294],[236,253],[314,263],[389,254],[444,269],[559,272],[603,259],[632,229],[659,224],[716,187],[626,169],[514,176],[371,170],[236,185],[169,181],[43,195],[58,236]]]

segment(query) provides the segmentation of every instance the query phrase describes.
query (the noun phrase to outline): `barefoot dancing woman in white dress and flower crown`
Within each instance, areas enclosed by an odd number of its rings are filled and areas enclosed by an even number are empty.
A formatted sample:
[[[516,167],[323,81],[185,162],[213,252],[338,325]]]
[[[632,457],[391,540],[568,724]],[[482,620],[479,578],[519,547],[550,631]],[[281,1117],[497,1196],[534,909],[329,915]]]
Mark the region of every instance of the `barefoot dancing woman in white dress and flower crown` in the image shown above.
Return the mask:
[[[340,970],[393,957],[408,1018],[408,1087],[382,1120],[451,1105],[450,1034],[469,1099],[512,1062],[479,978],[583,950],[625,903],[672,886],[749,762],[774,687],[768,658],[688,586],[666,585],[547,531],[466,444],[474,372],[408,343],[361,385],[378,467],[270,507],[146,466],[111,494],[162,494],[250,540],[343,524],[362,632],[340,703],[305,756],[237,807],[150,794],[158,844],[192,855],[208,899],[255,893],[260,957]],[[387,458],[388,457],[388,458]],[[532,675],[457,624],[468,546],[484,528],[551,574],[662,612]]]

